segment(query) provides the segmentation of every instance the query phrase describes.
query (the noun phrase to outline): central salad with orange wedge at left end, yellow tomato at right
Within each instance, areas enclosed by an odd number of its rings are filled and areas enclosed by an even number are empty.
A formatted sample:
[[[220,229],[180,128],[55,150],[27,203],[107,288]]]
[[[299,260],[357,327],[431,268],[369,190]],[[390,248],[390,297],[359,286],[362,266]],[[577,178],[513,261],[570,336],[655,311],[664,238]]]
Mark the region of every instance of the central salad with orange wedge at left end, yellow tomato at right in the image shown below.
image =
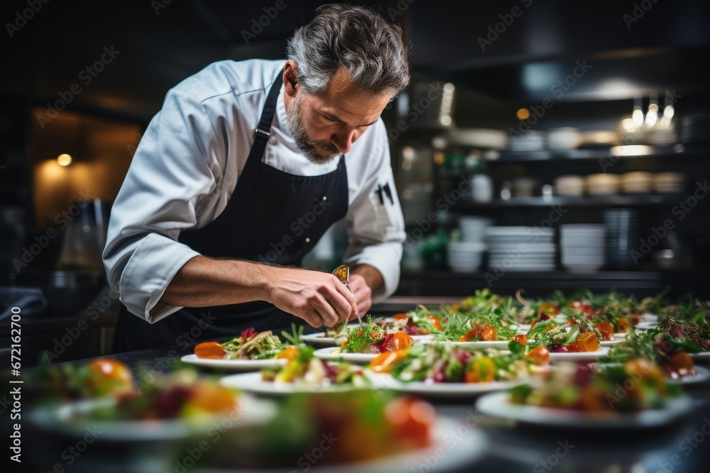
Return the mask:
[[[432,343],[382,354],[369,367],[376,373],[391,373],[401,382],[489,383],[528,377],[533,365],[519,352]]]

